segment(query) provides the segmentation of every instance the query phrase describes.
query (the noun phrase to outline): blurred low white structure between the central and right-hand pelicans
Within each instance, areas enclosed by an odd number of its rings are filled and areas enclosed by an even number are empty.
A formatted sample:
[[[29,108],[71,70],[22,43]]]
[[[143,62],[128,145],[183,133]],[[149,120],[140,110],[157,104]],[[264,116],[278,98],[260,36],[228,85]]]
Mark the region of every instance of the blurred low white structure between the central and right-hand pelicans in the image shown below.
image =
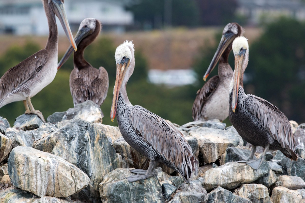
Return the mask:
[[[184,70],[157,70],[151,69],[148,72],[149,82],[154,84],[165,84],[167,86],[182,86],[194,84],[197,74],[191,69]]]

